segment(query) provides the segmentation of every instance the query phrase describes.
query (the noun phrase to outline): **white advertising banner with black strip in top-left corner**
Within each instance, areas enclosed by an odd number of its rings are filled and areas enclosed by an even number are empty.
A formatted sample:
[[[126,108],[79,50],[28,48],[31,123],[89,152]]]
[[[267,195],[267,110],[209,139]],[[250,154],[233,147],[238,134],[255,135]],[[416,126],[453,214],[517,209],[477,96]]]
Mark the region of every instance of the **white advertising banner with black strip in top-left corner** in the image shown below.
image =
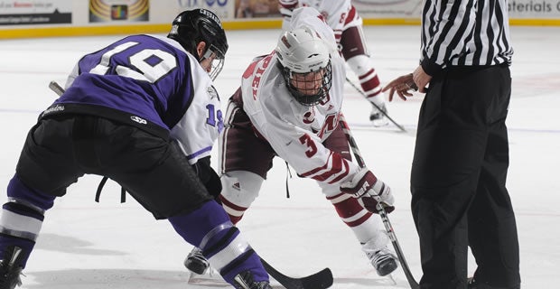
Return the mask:
[[[72,23],[72,0],[0,0],[0,25]]]

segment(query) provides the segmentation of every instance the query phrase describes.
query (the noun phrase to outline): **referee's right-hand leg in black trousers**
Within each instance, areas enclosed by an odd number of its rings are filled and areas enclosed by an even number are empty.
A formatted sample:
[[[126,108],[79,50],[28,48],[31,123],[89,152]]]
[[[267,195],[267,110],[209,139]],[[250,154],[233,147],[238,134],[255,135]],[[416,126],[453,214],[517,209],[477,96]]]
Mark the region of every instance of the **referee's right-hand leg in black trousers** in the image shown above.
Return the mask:
[[[508,114],[509,69],[496,67],[495,88],[490,111],[489,137],[476,198],[469,211],[469,243],[478,268],[478,284],[518,288],[519,245],[516,219],[506,189],[509,166]],[[501,79],[501,81],[499,81]],[[501,94],[500,94],[501,92]]]

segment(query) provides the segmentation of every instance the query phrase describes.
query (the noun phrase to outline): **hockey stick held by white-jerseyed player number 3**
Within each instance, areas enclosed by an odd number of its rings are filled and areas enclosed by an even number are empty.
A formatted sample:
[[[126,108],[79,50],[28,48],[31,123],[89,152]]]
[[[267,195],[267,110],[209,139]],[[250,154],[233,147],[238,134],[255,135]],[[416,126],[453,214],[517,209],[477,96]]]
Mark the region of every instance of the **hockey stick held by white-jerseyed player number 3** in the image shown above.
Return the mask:
[[[348,143],[350,144],[350,148],[352,149],[352,154],[354,154],[354,157],[356,157],[356,162],[358,162],[360,167],[362,168],[365,167],[366,163],[364,162],[361,153],[359,153],[358,145],[356,144],[356,141],[354,140],[354,136],[352,136],[350,132],[350,127],[346,123],[346,119],[342,114],[341,114],[340,122],[342,126],[342,131],[344,132],[344,135],[346,135],[346,139],[348,140]],[[398,244],[397,235],[395,234],[395,229],[393,229],[393,226],[389,221],[389,217],[387,216],[387,211],[380,203],[378,204],[378,211],[379,211],[379,217],[381,217],[381,219],[383,220],[383,225],[385,225],[385,229],[387,230],[387,235],[391,240],[393,247],[395,248],[395,253],[397,253],[398,262],[400,263],[401,267],[403,268],[403,271],[405,272],[406,281],[408,281],[408,284],[410,284],[410,288],[419,289],[420,285],[416,282],[415,276],[412,275],[412,272],[410,272],[410,268],[406,263],[403,249]]]

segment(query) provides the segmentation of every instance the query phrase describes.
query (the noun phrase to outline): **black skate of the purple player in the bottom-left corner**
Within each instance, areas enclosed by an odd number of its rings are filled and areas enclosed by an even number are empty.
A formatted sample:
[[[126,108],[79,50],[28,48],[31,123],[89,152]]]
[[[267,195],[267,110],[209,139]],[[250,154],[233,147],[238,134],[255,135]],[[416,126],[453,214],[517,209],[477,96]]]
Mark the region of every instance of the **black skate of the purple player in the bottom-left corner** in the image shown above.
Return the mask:
[[[10,246],[4,252],[4,259],[0,260],[0,289],[14,289],[22,285],[23,249]]]

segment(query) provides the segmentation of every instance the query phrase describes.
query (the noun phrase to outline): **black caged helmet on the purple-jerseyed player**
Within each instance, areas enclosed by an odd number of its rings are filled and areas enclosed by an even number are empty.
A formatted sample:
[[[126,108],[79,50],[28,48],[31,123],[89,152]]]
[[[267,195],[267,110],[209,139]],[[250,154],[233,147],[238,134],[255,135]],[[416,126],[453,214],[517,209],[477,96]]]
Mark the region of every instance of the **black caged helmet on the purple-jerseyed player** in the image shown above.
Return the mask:
[[[167,37],[181,43],[182,47],[198,57],[196,46],[199,42],[206,43],[206,51],[199,61],[210,57],[212,53],[219,63],[212,65],[210,77],[216,79],[223,68],[224,58],[228,51],[228,39],[216,14],[207,9],[183,11],[173,20],[172,28]]]

